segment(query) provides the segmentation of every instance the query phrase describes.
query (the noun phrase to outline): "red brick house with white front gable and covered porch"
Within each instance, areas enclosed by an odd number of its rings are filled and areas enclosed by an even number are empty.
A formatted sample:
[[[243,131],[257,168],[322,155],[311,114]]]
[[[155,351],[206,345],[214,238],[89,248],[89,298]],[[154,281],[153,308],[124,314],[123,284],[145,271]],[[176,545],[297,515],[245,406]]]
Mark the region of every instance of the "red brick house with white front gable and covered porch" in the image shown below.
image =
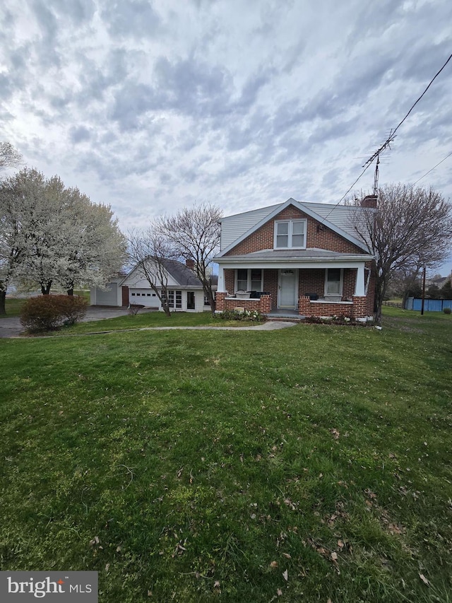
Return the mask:
[[[362,207],[288,199],[222,218],[216,310],[369,320],[373,256],[353,222],[375,206],[373,196]]]

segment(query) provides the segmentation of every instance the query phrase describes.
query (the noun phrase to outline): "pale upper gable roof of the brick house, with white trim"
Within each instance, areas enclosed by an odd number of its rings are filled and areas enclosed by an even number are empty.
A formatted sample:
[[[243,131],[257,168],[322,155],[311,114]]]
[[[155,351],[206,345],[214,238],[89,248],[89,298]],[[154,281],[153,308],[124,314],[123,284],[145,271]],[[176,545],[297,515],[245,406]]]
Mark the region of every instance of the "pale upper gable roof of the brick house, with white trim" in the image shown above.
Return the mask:
[[[345,240],[348,240],[354,245],[357,245],[359,249],[362,249],[363,251],[369,253],[369,248],[353,235],[353,231],[350,226],[350,217],[352,212],[355,212],[357,210],[359,211],[361,208],[344,205],[333,206],[330,204],[323,203],[307,203],[295,201],[295,199],[292,199],[292,197],[290,197],[290,199],[287,199],[287,201],[282,204],[272,205],[254,211],[246,211],[243,214],[237,213],[234,216],[227,216],[227,218],[222,218],[220,220],[222,229],[223,224],[227,223],[227,221],[230,221],[230,219],[232,218],[230,226],[232,226],[232,223],[234,224],[235,238],[234,240],[231,240],[231,232],[229,238],[226,238],[224,241],[222,240],[222,243],[224,242],[226,246],[222,246],[222,250],[217,257],[222,257],[222,255],[232,250],[236,245],[239,244],[239,242],[242,242],[244,239],[249,237],[249,235],[258,230],[258,228],[261,228],[261,226],[263,226],[269,220],[275,218],[275,216],[278,216],[278,213],[280,213],[280,211],[283,211],[283,209],[290,205],[293,205],[294,207],[299,209],[299,211],[306,213],[307,216],[310,216],[314,220],[321,222],[327,228],[330,228],[330,230],[333,230],[333,232],[345,238]],[[330,219],[326,219],[327,216]],[[247,229],[246,226],[248,227]]]

